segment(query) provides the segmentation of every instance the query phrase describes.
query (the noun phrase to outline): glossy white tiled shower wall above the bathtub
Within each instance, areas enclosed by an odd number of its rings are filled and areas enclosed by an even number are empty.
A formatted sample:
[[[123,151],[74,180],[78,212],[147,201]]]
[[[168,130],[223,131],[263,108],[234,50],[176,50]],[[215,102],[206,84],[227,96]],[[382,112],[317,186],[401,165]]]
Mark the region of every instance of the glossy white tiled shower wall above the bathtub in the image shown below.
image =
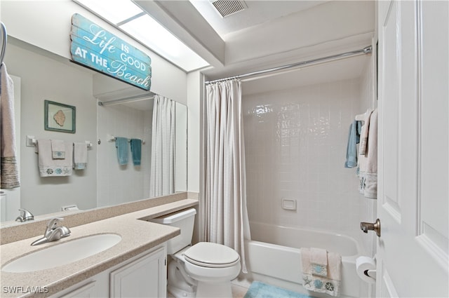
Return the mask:
[[[344,161],[361,89],[352,79],[243,96],[250,221],[359,235],[366,198]]]

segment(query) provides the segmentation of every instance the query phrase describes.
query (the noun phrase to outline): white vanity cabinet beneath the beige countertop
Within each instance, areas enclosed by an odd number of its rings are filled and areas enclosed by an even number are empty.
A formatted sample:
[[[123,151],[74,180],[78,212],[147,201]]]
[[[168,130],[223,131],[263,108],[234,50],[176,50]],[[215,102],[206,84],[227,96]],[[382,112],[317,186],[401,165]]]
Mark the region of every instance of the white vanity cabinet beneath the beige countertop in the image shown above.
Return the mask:
[[[166,245],[128,259],[53,297],[166,297]]]

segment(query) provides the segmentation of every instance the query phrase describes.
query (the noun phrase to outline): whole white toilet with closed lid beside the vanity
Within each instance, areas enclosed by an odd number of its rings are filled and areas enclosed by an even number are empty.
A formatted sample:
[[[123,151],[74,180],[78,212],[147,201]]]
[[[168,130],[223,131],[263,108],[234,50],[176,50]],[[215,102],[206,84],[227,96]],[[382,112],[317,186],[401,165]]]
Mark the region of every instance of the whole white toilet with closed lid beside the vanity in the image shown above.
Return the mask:
[[[192,243],[196,210],[170,213],[151,222],[181,229],[181,234],[167,241],[167,289],[174,297],[232,297],[231,280],[239,275],[239,254],[217,243]]]

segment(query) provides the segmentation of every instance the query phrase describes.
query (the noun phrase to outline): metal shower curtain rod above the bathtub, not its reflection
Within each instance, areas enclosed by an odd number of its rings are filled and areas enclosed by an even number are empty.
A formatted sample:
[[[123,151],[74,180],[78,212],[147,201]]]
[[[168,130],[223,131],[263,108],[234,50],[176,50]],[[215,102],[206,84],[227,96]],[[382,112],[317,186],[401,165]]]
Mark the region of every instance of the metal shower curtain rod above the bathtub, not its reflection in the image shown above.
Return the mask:
[[[362,48],[360,50],[352,50],[352,51],[346,52],[346,53],[340,53],[340,54],[330,55],[330,56],[326,56],[326,57],[320,57],[320,58],[316,58],[316,59],[312,59],[312,60],[307,60],[307,61],[293,63],[293,64],[290,64],[290,65],[283,65],[283,66],[280,66],[280,67],[273,67],[273,68],[269,68],[269,69],[262,69],[262,70],[259,70],[257,72],[248,72],[247,74],[239,74],[237,76],[229,76],[229,77],[227,77],[225,79],[217,79],[217,80],[213,80],[213,81],[206,81],[205,83],[206,83],[206,85],[208,85],[208,84],[211,84],[211,83],[217,83],[217,82],[227,81],[227,80],[232,80],[232,79],[242,79],[242,78],[246,78],[247,76],[257,76],[259,74],[267,74],[269,72],[277,72],[277,71],[283,70],[283,69],[289,69],[289,68],[293,68],[293,67],[300,67],[300,66],[304,66],[304,65],[317,63],[317,62],[323,62],[323,61],[326,61],[326,60],[339,59],[339,58],[343,58],[343,57],[350,57],[350,56],[361,55],[361,54],[369,54],[369,53],[371,53],[371,51],[372,51],[371,46],[366,46],[365,48]]]

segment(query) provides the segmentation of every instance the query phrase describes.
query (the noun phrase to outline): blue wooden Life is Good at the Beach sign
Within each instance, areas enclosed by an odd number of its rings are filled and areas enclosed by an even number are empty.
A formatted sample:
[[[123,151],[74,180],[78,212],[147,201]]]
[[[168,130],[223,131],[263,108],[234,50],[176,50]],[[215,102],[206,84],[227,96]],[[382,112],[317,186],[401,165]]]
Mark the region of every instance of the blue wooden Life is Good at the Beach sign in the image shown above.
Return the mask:
[[[82,15],[72,15],[72,60],[144,90],[151,88],[152,60],[141,50]]]

